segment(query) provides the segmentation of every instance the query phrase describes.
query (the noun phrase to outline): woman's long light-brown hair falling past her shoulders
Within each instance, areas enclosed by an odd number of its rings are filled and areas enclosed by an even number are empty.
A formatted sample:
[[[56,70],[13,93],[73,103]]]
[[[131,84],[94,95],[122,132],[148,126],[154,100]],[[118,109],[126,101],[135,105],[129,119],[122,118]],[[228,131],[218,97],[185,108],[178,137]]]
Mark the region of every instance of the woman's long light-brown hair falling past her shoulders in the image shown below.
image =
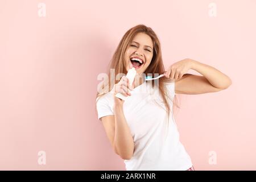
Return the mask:
[[[131,41],[133,40],[134,36],[137,35],[139,32],[143,32],[144,34],[147,34],[150,36],[153,42],[153,57],[151,60],[150,65],[148,65],[147,69],[144,71],[144,74],[163,74],[165,72],[164,65],[163,65],[163,58],[162,58],[162,51],[160,47],[160,42],[158,39],[158,36],[156,36],[155,32],[152,30],[152,28],[145,26],[144,24],[138,24],[135,27],[130,28],[125,35],[123,35],[121,41],[118,44],[117,49],[114,52],[114,55],[112,57],[112,60],[110,61],[109,64],[109,69],[108,69],[108,78],[109,81],[107,82],[102,82],[100,85],[101,90],[104,90],[102,92],[97,92],[96,100],[100,98],[101,96],[104,96],[104,94],[110,92],[112,90],[113,85],[117,84],[121,77],[119,78],[114,78],[110,76],[110,69],[113,69],[115,75],[118,75],[120,73],[124,73],[125,75],[127,74],[126,70],[126,60],[125,60],[125,52],[128,46],[130,46]],[[112,79],[112,80],[110,80]],[[110,82],[114,84],[109,84]],[[177,107],[179,107],[174,100],[170,98],[170,95],[167,92],[166,86],[164,82],[173,82],[173,80],[170,80],[166,77],[161,77],[159,78],[158,81],[158,87],[159,87],[159,93],[160,96],[163,98],[164,105],[166,106],[166,111],[168,113],[168,121],[169,121],[169,116],[170,116],[170,104],[168,100],[172,101]],[[151,81],[151,84],[154,88],[155,82]],[[99,90],[99,89],[98,89]],[[176,100],[176,97],[175,97]]]

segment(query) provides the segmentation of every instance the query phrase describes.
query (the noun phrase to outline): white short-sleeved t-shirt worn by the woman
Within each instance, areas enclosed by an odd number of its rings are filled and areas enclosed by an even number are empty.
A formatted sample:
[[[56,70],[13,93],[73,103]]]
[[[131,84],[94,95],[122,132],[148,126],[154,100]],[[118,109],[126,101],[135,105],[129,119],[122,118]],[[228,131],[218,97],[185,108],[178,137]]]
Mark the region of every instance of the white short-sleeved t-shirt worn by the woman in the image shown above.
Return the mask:
[[[166,83],[171,100],[175,96],[175,82]],[[158,89],[157,89],[158,90]],[[134,140],[134,154],[125,160],[126,170],[187,170],[192,167],[191,158],[179,139],[179,131],[170,104],[168,114],[159,91],[147,82],[131,90],[131,96],[123,103],[123,113]],[[114,115],[113,93],[100,97],[97,102],[98,119]],[[154,101],[157,99],[158,104]],[[168,130],[167,130],[168,129]]]

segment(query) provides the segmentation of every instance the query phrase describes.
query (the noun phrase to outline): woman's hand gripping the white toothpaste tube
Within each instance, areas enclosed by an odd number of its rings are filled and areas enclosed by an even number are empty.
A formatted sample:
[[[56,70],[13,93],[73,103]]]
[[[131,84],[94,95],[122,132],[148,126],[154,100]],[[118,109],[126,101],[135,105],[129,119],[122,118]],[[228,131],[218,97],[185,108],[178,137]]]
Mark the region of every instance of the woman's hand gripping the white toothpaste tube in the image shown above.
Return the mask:
[[[117,93],[123,94],[123,96],[131,96],[130,90],[133,90],[133,86],[130,86],[129,80],[126,76],[123,76],[121,80],[114,85],[113,90],[114,90],[114,106],[122,106],[123,105],[123,100],[121,98],[115,97]]]

